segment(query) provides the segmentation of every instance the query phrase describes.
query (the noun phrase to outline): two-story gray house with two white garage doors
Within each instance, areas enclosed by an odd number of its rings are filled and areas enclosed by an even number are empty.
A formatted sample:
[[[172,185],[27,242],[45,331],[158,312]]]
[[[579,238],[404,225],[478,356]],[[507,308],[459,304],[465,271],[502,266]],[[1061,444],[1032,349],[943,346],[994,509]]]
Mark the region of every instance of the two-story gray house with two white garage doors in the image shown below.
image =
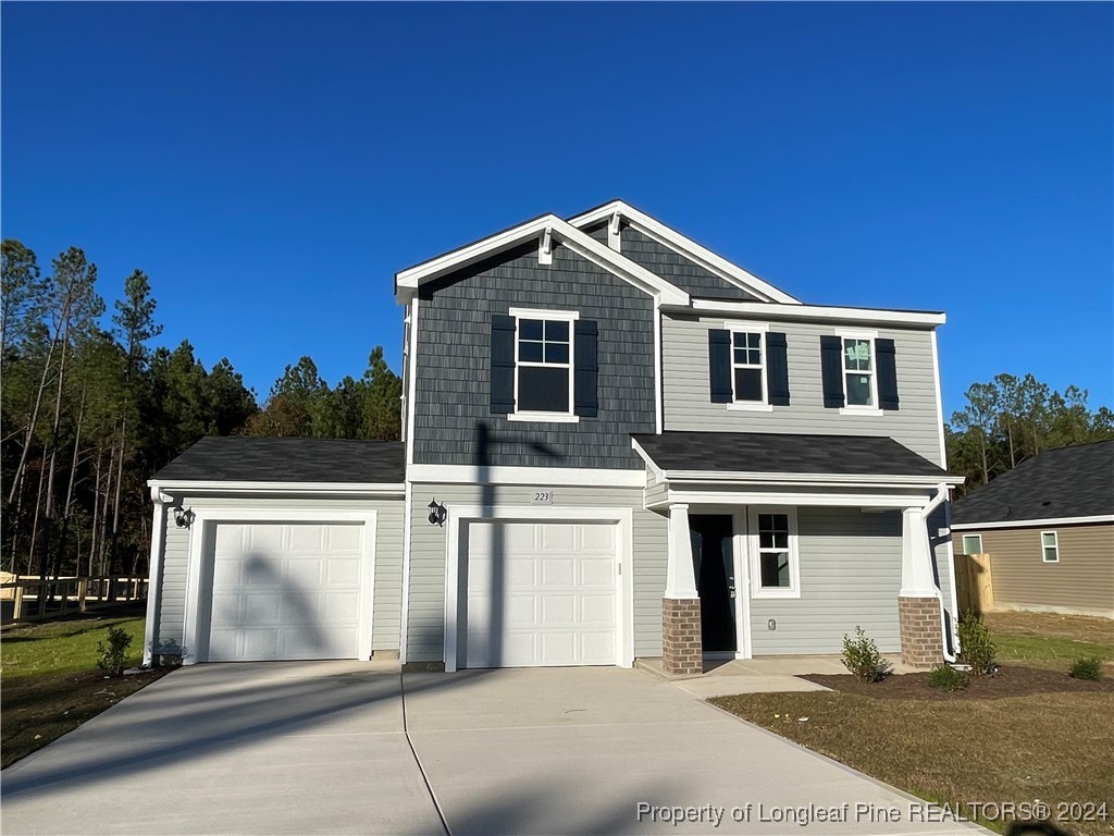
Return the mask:
[[[944,314],[804,304],[622,202],[395,293],[402,445],[205,439],[152,479],[150,653],[955,650]]]

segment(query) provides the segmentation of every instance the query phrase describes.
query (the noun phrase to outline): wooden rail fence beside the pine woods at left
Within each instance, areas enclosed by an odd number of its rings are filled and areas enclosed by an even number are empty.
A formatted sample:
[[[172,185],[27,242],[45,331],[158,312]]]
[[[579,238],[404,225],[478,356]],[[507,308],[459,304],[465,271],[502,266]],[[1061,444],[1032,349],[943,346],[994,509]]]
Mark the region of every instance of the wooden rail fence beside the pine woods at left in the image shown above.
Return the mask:
[[[21,577],[0,584],[4,621],[39,621],[69,612],[88,612],[127,601],[147,597],[147,579],[102,577]]]

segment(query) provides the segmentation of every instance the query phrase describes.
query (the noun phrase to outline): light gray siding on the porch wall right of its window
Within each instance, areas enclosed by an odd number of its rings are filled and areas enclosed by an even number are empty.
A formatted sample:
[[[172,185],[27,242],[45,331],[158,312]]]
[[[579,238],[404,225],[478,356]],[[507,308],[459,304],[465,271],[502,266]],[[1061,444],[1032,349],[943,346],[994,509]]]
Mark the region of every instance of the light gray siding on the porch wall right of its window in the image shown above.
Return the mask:
[[[801,597],[751,599],[753,655],[839,653],[856,626],[900,651],[901,513],[801,507],[798,532]]]

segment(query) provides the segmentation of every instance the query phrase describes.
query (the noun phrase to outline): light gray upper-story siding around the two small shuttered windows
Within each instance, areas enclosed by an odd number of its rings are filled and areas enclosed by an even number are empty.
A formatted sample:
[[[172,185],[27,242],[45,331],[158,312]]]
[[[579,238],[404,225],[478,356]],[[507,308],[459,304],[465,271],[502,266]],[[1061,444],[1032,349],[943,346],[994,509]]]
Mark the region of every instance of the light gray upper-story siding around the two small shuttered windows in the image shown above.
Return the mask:
[[[723,315],[662,318],[666,430],[889,436],[929,461],[942,465],[930,331],[861,329],[877,331],[879,337],[895,342],[900,409],[857,416],[840,415],[839,409],[823,406],[820,337],[834,334],[839,325],[770,322],[771,331],[786,334],[791,405],[774,407],[770,412],[733,411],[725,404],[713,404],[709,389],[707,332],[712,328],[723,328],[725,321]]]

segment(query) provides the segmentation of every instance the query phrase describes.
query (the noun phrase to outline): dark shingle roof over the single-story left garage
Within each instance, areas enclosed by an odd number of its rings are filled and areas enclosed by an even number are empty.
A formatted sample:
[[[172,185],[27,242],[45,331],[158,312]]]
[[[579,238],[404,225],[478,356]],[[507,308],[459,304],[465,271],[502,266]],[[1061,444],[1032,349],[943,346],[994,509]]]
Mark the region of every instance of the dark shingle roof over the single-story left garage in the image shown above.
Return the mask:
[[[405,460],[401,441],[211,436],[152,478],[398,484],[404,478]]]

